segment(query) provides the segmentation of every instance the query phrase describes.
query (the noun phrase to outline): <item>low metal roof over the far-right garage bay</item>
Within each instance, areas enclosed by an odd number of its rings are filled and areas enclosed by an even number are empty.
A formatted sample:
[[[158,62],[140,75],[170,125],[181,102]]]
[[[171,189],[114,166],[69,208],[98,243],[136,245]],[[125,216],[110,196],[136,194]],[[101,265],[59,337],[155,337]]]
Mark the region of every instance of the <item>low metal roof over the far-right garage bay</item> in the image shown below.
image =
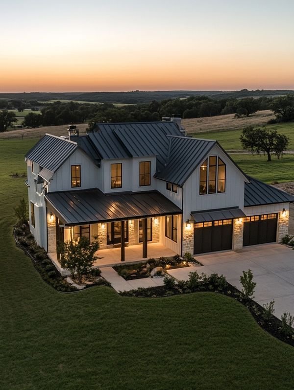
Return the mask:
[[[245,207],[294,202],[293,195],[249,176],[248,179],[250,183],[245,183]]]

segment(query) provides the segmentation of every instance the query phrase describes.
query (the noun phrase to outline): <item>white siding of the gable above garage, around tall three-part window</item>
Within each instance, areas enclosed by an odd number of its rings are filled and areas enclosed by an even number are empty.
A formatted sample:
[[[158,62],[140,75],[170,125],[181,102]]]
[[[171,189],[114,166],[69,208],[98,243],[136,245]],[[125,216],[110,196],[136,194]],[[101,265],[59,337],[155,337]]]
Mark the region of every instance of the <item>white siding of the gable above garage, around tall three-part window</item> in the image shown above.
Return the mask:
[[[215,145],[209,156],[220,157],[226,164],[225,192],[215,194],[199,194],[200,165],[184,184],[183,221],[191,219],[191,211],[211,210],[238,206],[244,209],[245,177],[226,156],[218,145]],[[205,160],[203,159],[203,161]],[[201,161],[202,163],[202,161]]]

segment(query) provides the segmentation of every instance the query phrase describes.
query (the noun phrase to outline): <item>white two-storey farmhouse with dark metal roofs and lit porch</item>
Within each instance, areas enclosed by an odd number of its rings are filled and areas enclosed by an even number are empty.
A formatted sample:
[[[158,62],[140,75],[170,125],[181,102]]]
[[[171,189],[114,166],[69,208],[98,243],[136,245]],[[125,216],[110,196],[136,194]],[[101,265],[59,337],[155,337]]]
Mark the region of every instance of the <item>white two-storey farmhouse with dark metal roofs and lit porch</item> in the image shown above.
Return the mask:
[[[178,118],[46,134],[25,161],[30,230],[59,267],[58,242],[81,236],[98,237],[115,263],[240,250],[288,232],[294,197],[248,177],[217,141],[186,137]]]

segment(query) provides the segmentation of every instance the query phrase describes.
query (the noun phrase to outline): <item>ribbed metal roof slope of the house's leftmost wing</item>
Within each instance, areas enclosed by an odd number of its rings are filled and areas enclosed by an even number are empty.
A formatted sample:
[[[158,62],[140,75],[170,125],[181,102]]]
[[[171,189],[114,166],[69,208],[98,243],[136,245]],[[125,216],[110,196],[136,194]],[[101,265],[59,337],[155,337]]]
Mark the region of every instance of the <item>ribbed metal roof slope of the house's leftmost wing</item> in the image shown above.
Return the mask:
[[[76,148],[76,142],[46,134],[27,152],[25,159],[55,172]]]

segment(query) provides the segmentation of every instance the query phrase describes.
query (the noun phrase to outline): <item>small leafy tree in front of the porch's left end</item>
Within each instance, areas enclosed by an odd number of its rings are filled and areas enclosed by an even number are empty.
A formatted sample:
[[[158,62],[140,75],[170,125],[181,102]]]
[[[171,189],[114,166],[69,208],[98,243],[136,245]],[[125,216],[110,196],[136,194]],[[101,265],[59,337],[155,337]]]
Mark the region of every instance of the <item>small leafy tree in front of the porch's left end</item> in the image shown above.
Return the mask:
[[[98,258],[95,252],[98,251],[97,241],[89,242],[86,237],[81,237],[77,242],[71,240],[61,245],[61,255],[65,268],[71,271],[72,276],[77,275],[81,283],[82,276],[87,275]]]

